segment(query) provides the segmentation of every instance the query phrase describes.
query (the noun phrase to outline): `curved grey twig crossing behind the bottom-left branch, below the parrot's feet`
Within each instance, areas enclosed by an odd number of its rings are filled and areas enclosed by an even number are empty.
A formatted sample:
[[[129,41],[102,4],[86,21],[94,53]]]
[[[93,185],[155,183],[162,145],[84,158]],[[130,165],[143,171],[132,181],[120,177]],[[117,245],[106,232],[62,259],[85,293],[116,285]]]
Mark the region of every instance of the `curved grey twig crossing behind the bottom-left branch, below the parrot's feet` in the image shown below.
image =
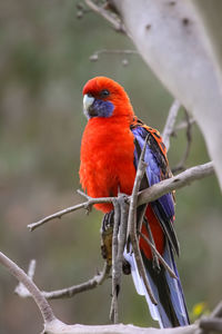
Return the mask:
[[[57,291],[41,291],[41,294],[44,298],[47,299],[61,299],[61,298],[70,298],[73,297],[74,295],[87,292],[90,289],[93,289],[101,285],[110,275],[110,269],[111,266],[109,266],[107,263],[104,264],[104,267],[101,273],[97,274],[94,277],[90,278],[89,281],[78,284],[78,285],[72,285],[70,287],[57,289]],[[23,298],[31,297],[32,295],[30,292],[24,287],[22,283],[20,283],[14,292]]]

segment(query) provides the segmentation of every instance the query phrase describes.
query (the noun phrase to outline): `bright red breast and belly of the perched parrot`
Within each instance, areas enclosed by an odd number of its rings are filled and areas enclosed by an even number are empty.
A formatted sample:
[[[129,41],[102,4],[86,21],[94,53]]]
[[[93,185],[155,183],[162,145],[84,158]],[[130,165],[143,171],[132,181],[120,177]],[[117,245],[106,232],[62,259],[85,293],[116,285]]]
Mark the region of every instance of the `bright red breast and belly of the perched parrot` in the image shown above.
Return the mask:
[[[135,177],[133,135],[129,119],[92,118],[81,144],[80,181],[91,197],[117,196],[118,190],[131,194]],[[111,204],[98,204],[104,213]]]

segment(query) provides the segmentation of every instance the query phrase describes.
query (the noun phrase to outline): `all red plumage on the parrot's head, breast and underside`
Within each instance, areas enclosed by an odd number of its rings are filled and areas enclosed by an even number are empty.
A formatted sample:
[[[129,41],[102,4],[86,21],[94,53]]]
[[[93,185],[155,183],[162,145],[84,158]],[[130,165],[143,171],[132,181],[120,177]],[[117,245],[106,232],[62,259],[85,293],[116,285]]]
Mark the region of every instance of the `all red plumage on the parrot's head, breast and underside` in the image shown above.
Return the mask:
[[[134,137],[130,130],[134,112],[124,89],[115,81],[105,77],[97,77],[87,82],[83,95],[90,94],[95,98],[105,88],[110,90],[109,100],[114,105],[113,115],[109,118],[94,117],[89,119],[81,143],[80,181],[91,197],[117,196],[118,189],[131,195],[135,167]],[[95,208],[103,213],[110,212],[112,204],[95,204]],[[147,217],[153,233],[157,248],[163,250],[164,236],[162,228],[148,206]],[[147,230],[142,230],[147,234]],[[148,243],[140,240],[140,246],[148,258],[151,249]]]

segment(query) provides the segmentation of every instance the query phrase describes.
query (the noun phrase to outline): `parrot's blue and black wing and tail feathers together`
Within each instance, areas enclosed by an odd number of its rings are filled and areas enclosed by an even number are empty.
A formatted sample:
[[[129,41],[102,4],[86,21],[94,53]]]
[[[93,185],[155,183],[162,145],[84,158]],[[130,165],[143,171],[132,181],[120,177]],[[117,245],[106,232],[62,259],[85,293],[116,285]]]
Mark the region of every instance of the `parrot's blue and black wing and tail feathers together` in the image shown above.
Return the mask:
[[[135,139],[134,165],[137,168],[141,150],[144,146],[145,138],[149,135],[149,130],[148,128],[144,128],[140,125],[133,125],[131,130]],[[150,136],[152,135],[150,134]],[[161,151],[159,144],[154,140],[155,139],[153,137],[151,137],[150,140],[148,138],[148,145],[145,147],[144,160],[148,165],[145,170],[147,187],[152,186],[164,178],[168,178],[170,175],[168,161],[163,153]],[[131,263],[132,268],[134,268],[134,271],[132,271],[132,276],[135,286],[139,285],[138,288],[140,287],[139,293],[145,295],[151,311],[151,315],[154,320],[159,321],[160,326],[184,326],[189,324],[189,316],[172,252],[173,249],[175,253],[179,254],[179,244],[173,227],[173,196],[172,194],[163,195],[158,200],[150,203],[150,205],[152,206],[152,209],[155,213],[155,216],[158,217],[165,235],[163,258],[178,276],[178,279],[172,278],[162,265],[160,265],[160,272],[158,272],[153,267],[152,261],[147,258],[143,252],[141,252],[144,267],[147,271],[147,276],[150,282],[152,292],[158,301],[158,305],[153,305],[151,303],[143,282],[139,284],[139,279],[141,278],[139,274],[137,274],[138,271],[134,261],[134,255],[132,253],[125,253],[125,258]]]

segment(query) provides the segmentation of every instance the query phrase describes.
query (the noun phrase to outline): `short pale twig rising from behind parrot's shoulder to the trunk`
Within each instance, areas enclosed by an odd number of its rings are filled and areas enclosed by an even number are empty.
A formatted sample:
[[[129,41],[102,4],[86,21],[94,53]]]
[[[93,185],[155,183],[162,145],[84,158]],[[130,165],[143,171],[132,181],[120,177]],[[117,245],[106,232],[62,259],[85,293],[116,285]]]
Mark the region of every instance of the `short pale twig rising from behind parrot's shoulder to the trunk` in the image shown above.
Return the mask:
[[[175,125],[175,119],[176,119],[180,107],[181,107],[181,104],[179,102],[179,100],[175,99],[170,108],[168,119],[167,119],[167,122],[165,122],[165,126],[164,126],[164,129],[162,132],[162,139],[167,147],[167,150],[169,150],[169,148],[170,148],[170,136],[172,136],[172,134],[173,134],[173,128]]]

